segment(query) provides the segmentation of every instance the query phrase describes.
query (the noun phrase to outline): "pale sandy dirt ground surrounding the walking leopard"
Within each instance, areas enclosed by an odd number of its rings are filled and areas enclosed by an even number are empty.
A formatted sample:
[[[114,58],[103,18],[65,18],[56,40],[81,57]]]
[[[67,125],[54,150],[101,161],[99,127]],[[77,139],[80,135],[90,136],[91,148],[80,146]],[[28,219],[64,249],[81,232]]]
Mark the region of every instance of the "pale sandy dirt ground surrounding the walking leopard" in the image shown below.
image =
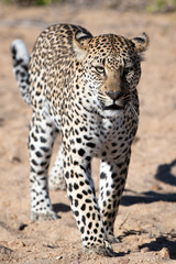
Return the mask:
[[[28,125],[31,109],[12,74],[10,43],[32,50],[41,30],[75,23],[94,34],[128,37],[147,32],[151,45],[139,86],[140,128],[116,220],[117,257],[85,255],[65,191],[51,191],[56,221],[30,220]],[[176,13],[119,12],[78,6],[43,8],[0,3],[0,263],[176,263]],[[55,146],[55,152],[57,146]],[[94,179],[98,189],[98,165]]]

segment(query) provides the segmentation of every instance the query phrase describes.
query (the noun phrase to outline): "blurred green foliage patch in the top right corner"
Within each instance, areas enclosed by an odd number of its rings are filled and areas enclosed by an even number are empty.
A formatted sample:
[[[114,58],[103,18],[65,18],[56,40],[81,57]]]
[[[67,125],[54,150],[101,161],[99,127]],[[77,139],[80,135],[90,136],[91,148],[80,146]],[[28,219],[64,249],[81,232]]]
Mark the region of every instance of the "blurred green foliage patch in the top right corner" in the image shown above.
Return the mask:
[[[148,12],[176,11],[176,0],[153,0],[153,2],[147,6],[146,10]]]

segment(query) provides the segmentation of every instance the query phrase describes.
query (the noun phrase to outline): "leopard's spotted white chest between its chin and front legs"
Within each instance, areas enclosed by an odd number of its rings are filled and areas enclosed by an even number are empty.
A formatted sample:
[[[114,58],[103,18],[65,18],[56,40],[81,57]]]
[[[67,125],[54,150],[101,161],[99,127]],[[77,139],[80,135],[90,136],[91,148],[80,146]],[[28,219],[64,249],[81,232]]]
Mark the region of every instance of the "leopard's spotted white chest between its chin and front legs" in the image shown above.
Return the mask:
[[[86,151],[91,157],[120,156],[129,152],[138,122],[128,112],[113,118],[89,112],[65,112],[63,139],[67,150]]]

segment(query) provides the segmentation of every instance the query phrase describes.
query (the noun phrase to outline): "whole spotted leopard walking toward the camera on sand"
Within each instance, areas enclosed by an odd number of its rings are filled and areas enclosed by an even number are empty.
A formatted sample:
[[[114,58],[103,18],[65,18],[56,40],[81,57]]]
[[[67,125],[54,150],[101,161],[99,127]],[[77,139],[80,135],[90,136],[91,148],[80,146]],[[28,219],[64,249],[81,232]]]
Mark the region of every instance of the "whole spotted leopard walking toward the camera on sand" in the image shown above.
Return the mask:
[[[55,24],[42,31],[31,55],[22,40],[11,44],[21,96],[32,107],[31,219],[56,220],[48,189],[66,189],[84,252],[114,255],[114,221],[139,127],[136,87],[148,43],[146,33],[94,36],[80,25]],[[47,179],[58,134],[62,142]],[[95,157],[100,160],[97,195]]]

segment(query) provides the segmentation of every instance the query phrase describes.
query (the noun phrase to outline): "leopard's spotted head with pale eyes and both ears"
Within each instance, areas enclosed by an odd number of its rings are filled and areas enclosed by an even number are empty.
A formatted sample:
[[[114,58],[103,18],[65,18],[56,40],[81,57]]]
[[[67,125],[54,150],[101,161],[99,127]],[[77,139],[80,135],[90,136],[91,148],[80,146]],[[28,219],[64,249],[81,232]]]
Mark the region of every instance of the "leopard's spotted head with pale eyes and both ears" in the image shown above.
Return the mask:
[[[105,114],[125,109],[139,84],[148,42],[145,33],[131,40],[113,34],[95,37],[82,32],[75,34],[77,79],[91,108]]]

